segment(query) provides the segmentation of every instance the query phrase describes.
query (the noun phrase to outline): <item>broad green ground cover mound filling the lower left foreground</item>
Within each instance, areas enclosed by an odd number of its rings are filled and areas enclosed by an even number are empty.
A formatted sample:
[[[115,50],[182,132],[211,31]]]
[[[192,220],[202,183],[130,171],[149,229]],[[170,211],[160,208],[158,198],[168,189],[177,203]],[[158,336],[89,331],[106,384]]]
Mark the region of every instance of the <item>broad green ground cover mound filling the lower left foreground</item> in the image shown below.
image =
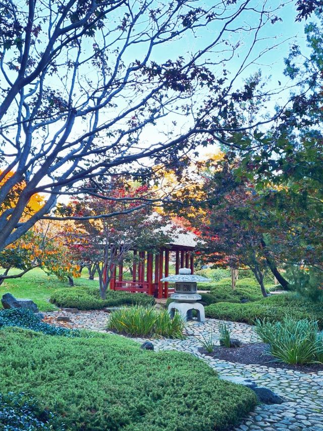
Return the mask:
[[[67,339],[5,328],[0,346],[0,392],[42,400],[72,431],[219,431],[256,402],[193,355],[141,350],[119,336]]]

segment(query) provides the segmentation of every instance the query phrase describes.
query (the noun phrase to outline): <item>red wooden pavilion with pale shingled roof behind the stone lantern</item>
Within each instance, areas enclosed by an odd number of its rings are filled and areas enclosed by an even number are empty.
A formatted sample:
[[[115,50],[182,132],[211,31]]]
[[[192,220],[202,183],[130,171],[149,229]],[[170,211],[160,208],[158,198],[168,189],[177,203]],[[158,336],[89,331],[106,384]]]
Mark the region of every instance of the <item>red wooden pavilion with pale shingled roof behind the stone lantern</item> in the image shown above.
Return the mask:
[[[113,276],[110,280],[110,289],[124,292],[141,292],[152,295],[155,298],[168,298],[174,292],[169,283],[160,281],[160,278],[169,275],[169,264],[172,259],[175,261],[176,274],[180,268],[191,268],[194,272],[193,251],[198,241],[197,235],[183,227],[177,225],[167,225],[162,228],[168,235],[171,233],[173,240],[158,253],[151,253],[149,250],[138,252],[133,250],[134,263],[132,266],[132,280],[123,279],[123,263],[119,264],[117,277],[117,266],[113,269]],[[139,263],[138,258],[139,257]]]

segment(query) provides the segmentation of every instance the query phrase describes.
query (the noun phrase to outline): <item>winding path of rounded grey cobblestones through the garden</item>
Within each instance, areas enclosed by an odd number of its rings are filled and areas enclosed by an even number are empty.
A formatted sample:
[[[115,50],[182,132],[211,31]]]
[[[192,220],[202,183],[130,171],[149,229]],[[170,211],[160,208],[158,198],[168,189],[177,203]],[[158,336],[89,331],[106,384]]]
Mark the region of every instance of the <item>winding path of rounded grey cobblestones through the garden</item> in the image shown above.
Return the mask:
[[[68,316],[70,323],[57,322],[57,316]],[[71,314],[66,312],[46,313],[45,319],[51,323],[63,324],[68,327],[86,328],[104,331],[109,315],[103,311],[80,312]],[[214,340],[219,340],[218,322],[207,319],[205,323],[196,321],[186,325],[186,340],[151,340],[156,351],[178,350],[189,352],[203,359],[220,376],[239,376],[251,378],[258,386],[272,389],[282,396],[286,402],[283,404],[259,405],[255,410],[233,428],[232,431],[323,431],[323,371],[317,373],[303,373],[282,368],[273,368],[257,365],[244,365],[210,358],[198,351],[201,346],[198,339],[202,336],[209,338],[211,331]],[[257,341],[252,326],[227,322],[232,330],[232,337],[242,342]],[[134,339],[139,343],[145,339]]]

